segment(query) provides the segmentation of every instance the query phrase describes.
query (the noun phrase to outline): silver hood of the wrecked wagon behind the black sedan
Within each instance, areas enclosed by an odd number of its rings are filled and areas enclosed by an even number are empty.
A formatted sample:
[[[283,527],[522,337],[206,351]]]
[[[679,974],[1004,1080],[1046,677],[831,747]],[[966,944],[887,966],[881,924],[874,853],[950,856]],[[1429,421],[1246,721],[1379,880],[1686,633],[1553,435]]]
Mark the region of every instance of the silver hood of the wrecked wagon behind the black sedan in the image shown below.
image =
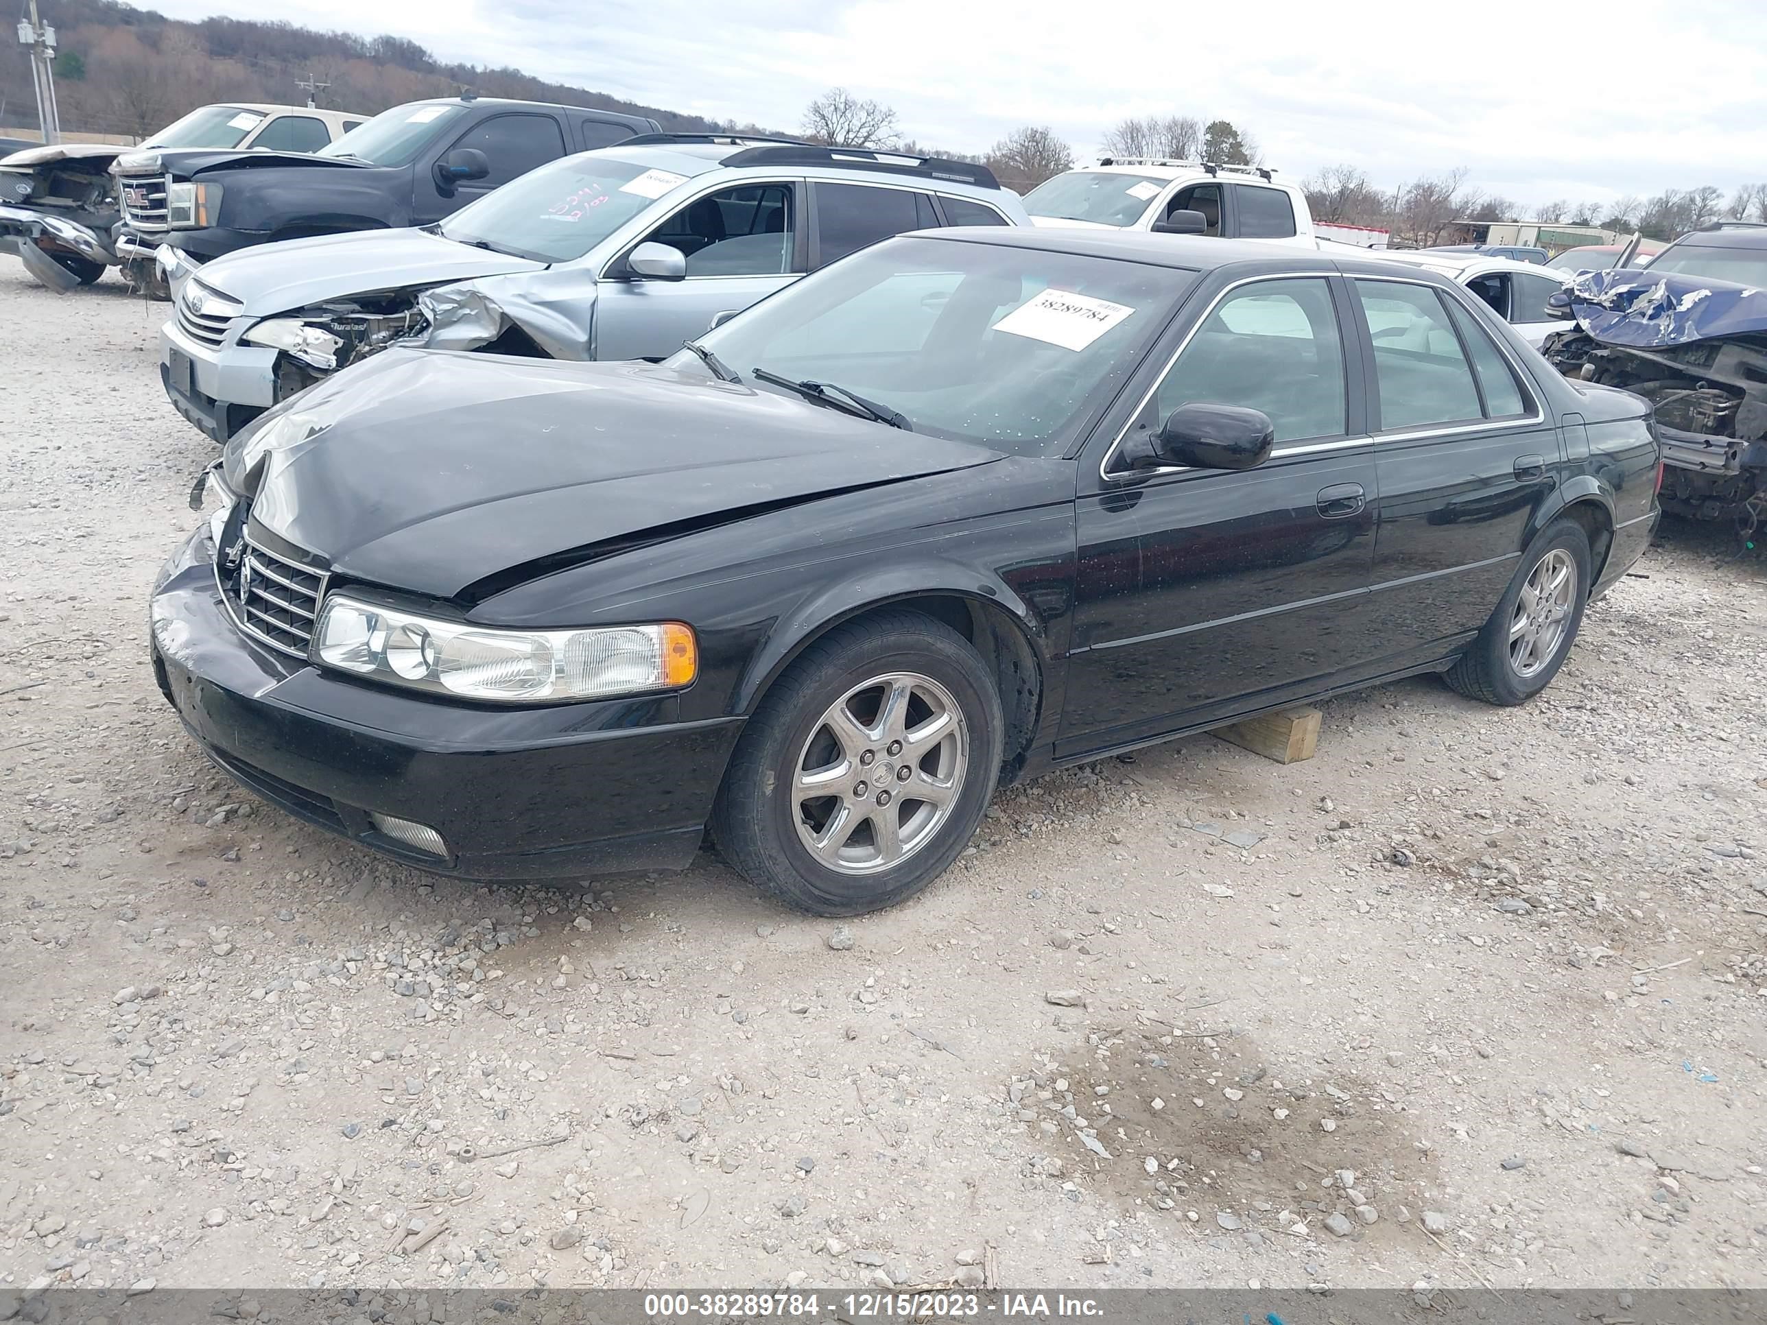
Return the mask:
[[[237,249],[207,263],[201,281],[242,302],[246,316],[267,318],[376,290],[537,270],[544,263],[429,230],[359,230]]]

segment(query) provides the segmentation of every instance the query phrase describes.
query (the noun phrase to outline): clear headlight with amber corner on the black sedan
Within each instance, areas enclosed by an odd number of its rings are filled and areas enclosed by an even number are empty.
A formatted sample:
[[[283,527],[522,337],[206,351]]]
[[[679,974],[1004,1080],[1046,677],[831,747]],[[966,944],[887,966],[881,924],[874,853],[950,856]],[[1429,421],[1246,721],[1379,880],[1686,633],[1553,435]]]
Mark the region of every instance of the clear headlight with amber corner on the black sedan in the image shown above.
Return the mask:
[[[500,631],[433,620],[332,594],[313,632],[315,661],[391,685],[461,700],[557,703],[689,685],[700,670],[680,622],[590,631]]]

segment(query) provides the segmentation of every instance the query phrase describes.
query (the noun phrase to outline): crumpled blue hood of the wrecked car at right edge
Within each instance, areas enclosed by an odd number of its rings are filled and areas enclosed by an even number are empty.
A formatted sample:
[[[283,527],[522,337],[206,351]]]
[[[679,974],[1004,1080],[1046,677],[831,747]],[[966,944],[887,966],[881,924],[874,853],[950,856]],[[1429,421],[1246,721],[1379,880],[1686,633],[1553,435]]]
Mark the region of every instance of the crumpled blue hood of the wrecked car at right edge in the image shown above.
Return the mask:
[[[1638,350],[1767,332],[1767,292],[1705,276],[1583,272],[1548,306],[1569,307],[1603,344]]]

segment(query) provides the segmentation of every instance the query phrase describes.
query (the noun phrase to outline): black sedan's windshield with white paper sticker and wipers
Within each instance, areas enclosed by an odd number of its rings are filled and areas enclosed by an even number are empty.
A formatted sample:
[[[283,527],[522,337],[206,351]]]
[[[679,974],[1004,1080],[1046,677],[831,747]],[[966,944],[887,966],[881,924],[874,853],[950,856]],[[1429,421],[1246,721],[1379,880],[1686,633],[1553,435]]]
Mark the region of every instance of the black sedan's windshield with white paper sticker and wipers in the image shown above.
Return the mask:
[[[700,344],[744,382],[756,369],[820,382],[901,413],[917,433],[1044,454],[1122,385],[1194,283],[1170,267],[892,238]],[[670,364],[714,371],[689,352]]]

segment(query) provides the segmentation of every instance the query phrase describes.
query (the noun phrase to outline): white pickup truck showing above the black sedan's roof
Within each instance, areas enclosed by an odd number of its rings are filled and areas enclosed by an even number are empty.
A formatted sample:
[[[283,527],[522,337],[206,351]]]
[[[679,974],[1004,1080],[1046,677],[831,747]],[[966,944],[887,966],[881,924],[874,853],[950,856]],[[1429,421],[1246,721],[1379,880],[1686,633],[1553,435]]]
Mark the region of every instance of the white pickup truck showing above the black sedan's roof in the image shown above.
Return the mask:
[[[1308,196],[1262,166],[1103,157],[1044,180],[1025,196],[1039,226],[1092,226],[1225,235],[1297,249],[1316,247]],[[1196,212],[1179,217],[1177,212]]]

